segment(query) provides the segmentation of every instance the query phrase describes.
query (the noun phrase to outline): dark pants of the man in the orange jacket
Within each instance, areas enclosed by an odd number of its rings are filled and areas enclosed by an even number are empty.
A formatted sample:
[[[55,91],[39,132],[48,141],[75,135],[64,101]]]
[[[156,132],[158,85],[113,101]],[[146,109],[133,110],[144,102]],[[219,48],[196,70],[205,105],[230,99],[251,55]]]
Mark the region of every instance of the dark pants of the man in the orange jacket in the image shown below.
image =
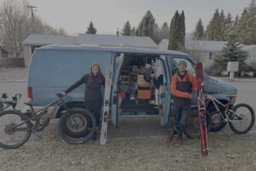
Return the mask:
[[[182,135],[191,111],[191,104],[180,101],[180,103],[174,103],[173,107],[175,113],[175,123],[173,129],[175,132],[177,132],[177,134]]]

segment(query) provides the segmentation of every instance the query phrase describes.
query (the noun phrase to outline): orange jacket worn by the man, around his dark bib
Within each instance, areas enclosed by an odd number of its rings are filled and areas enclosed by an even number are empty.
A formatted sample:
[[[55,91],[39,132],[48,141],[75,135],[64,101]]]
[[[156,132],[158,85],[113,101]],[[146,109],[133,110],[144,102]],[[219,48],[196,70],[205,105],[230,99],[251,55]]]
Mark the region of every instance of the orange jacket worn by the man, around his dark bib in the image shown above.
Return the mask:
[[[189,77],[189,81],[192,83],[192,92],[196,92],[195,77],[192,74],[190,74],[189,71],[186,71],[186,74],[183,77],[183,79],[181,77],[178,77],[178,81],[179,82],[187,82],[187,80],[188,80],[187,77]],[[177,83],[177,76],[173,75],[172,81],[171,81],[171,94],[175,95],[179,98],[191,99],[191,94],[177,90],[176,83]]]

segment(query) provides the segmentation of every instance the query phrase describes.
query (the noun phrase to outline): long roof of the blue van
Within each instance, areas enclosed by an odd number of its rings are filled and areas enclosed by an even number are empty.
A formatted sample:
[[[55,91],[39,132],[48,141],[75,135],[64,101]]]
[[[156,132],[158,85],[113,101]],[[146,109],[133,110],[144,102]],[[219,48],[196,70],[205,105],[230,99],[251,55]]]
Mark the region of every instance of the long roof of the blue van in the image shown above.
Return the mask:
[[[127,48],[127,47],[107,47],[97,45],[58,45],[53,44],[49,46],[43,46],[37,48],[37,50],[82,50],[82,51],[102,51],[102,52],[116,52],[116,53],[128,53],[128,54],[174,54],[189,56],[183,52],[174,50],[160,50],[152,48]]]

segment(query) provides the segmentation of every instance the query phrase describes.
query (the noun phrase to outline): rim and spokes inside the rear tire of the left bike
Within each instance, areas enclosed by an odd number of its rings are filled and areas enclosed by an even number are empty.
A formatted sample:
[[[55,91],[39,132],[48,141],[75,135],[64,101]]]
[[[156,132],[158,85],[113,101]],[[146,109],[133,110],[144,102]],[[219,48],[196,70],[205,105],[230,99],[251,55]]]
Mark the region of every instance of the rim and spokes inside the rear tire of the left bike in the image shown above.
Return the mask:
[[[17,131],[14,127],[23,123],[19,115],[8,114],[3,115],[0,119],[0,144],[6,146],[16,146],[22,144],[30,131],[26,123],[20,125],[18,128],[26,129],[24,131]]]

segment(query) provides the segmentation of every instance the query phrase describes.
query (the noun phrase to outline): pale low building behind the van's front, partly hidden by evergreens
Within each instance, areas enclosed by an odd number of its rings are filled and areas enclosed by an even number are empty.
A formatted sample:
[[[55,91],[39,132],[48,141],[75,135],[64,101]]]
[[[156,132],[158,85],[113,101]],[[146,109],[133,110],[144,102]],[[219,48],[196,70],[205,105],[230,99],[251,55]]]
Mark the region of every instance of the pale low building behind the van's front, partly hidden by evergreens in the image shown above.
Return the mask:
[[[168,39],[163,39],[159,43],[160,49],[168,49]],[[200,60],[204,67],[212,66],[214,60],[213,58],[220,54],[222,48],[227,42],[223,41],[199,41],[199,40],[186,40],[185,51],[187,54],[195,57],[196,60]],[[253,62],[256,63],[256,45],[244,45],[243,49],[248,52],[247,60],[245,62],[248,65],[252,65]]]

